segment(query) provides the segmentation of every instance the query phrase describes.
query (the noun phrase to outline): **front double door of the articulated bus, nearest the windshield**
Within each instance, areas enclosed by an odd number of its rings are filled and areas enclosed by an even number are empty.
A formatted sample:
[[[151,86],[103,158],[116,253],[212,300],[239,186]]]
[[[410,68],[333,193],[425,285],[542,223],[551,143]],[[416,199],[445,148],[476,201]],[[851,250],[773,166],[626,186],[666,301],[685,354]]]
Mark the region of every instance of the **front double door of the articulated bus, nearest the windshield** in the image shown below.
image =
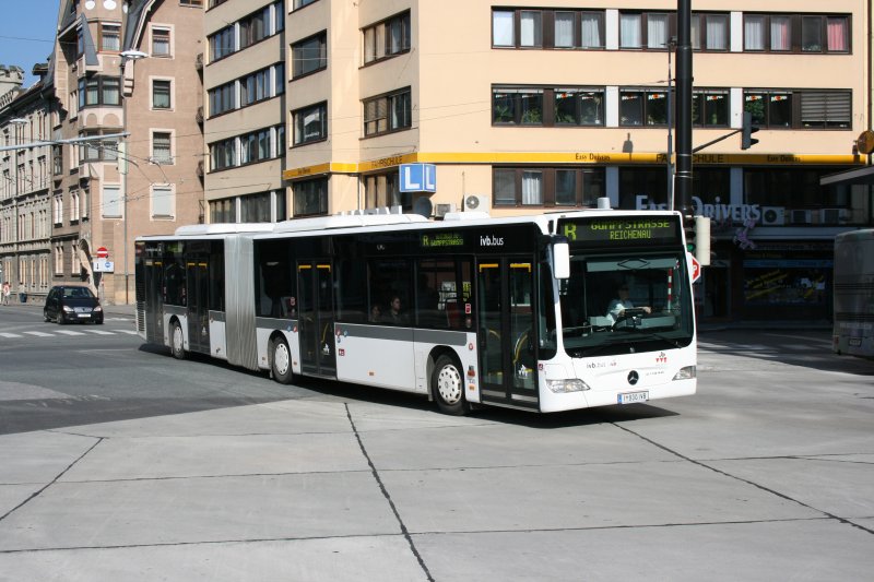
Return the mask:
[[[483,402],[538,407],[533,268],[528,257],[477,263]]]

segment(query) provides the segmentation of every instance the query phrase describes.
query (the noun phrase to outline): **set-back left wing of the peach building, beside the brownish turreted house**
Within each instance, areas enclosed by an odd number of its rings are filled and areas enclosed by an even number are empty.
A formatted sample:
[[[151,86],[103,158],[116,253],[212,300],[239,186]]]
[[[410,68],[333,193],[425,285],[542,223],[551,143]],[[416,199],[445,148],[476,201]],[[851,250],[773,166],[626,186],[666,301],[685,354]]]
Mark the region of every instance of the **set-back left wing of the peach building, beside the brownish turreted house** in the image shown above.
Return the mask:
[[[288,217],[285,2],[209,0],[204,198],[210,222]]]

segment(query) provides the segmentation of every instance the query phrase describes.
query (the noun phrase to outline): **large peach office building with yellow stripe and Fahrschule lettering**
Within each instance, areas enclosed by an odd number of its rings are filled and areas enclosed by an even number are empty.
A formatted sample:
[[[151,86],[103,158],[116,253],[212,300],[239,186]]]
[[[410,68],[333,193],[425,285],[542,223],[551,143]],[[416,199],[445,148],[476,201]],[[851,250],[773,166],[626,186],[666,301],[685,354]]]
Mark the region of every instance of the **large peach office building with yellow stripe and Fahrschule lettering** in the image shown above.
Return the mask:
[[[208,0],[205,23],[210,222],[672,205],[673,1]],[[695,2],[705,319],[830,317],[831,240],[874,216],[869,187],[819,186],[870,163],[870,24],[851,0]]]

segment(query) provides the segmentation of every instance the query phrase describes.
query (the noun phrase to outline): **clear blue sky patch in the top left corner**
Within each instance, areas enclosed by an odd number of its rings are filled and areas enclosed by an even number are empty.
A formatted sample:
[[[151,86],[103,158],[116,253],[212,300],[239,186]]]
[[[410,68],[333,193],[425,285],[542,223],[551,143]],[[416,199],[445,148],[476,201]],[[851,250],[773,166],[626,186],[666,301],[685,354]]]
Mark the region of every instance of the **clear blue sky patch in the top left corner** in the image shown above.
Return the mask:
[[[36,83],[34,64],[55,46],[61,0],[0,0],[0,64],[24,69],[24,86]]]

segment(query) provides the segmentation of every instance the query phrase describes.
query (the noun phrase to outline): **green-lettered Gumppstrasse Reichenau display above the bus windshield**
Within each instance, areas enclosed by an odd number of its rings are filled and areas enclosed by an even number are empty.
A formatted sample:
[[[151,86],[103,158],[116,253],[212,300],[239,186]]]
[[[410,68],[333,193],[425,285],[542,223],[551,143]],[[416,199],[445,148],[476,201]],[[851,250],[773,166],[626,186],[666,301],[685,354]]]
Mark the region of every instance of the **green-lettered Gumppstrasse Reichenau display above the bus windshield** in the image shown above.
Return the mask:
[[[623,216],[559,221],[558,233],[569,242],[642,242],[680,241],[677,221],[661,216]]]

